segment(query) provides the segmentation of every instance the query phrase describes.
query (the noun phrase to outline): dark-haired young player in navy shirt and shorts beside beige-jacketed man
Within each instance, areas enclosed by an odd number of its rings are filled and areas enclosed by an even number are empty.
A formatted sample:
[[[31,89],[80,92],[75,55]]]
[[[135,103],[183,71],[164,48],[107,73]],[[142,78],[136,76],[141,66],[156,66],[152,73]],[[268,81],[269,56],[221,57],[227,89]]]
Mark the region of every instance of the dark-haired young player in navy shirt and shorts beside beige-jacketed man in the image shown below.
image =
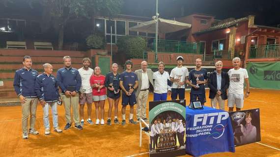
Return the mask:
[[[125,125],[126,123],[125,122],[126,105],[130,106],[129,123],[137,124],[137,122],[133,120],[133,113],[134,113],[134,105],[136,104],[136,95],[134,90],[138,87],[138,78],[137,75],[131,70],[132,65],[133,65],[132,61],[127,60],[125,62],[126,70],[120,75],[119,86],[122,89],[121,125]]]

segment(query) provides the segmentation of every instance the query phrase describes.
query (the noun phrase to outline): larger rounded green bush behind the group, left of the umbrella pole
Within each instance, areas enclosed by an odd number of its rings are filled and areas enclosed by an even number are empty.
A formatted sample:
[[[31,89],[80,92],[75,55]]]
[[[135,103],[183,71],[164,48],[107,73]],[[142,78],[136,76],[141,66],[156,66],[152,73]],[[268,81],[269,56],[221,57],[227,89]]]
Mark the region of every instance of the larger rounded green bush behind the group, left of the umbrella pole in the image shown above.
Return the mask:
[[[142,58],[147,49],[145,39],[139,36],[122,36],[117,40],[117,47],[126,58]]]

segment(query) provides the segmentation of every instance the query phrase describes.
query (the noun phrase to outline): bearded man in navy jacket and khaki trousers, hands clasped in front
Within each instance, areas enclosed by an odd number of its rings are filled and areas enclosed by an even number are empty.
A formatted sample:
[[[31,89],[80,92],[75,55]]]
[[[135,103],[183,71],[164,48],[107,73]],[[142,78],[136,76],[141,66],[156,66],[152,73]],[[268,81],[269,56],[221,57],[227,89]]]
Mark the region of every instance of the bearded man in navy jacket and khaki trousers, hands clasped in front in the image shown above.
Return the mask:
[[[79,71],[71,67],[71,58],[70,56],[63,57],[64,68],[60,68],[57,71],[57,82],[62,91],[62,100],[65,107],[65,117],[66,117],[66,126],[65,130],[70,129],[71,127],[71,105],[73,109],[73,119],[75,122],[75,128],[82,130],[83,127],[80,125],[79,118],[79,90],[82,85],[82,79],[79,74]]]

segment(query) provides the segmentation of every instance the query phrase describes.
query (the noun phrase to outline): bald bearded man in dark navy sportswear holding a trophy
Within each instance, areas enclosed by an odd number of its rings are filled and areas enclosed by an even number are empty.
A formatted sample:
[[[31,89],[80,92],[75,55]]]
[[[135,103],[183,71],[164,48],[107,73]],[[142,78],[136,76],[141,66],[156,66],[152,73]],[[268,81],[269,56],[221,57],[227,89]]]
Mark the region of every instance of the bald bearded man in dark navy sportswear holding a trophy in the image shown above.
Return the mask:
[[[200,58],[196,59],[196,68],[190,71],[187,83],[192,86],[190,93],[190,102],[200,101],[201,105],[206,102],[205,86],[208,81],[207,71],[201,68],[202,61]]]

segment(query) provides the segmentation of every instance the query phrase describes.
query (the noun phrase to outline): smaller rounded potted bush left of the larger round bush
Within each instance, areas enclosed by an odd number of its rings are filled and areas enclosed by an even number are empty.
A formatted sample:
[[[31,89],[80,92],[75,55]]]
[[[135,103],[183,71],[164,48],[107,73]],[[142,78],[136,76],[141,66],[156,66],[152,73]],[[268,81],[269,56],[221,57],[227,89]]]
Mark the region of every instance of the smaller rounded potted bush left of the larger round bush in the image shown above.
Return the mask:
[[[91,35],[89,35],[86,39],[86,45],[90,48],[90,49],[105,49],[106,47],[106,40],[104,35],[100,34],[100,33],[93,33]],[[97,51],[97,54],[99,55],[106,55],[107,52],[106,51]]]

